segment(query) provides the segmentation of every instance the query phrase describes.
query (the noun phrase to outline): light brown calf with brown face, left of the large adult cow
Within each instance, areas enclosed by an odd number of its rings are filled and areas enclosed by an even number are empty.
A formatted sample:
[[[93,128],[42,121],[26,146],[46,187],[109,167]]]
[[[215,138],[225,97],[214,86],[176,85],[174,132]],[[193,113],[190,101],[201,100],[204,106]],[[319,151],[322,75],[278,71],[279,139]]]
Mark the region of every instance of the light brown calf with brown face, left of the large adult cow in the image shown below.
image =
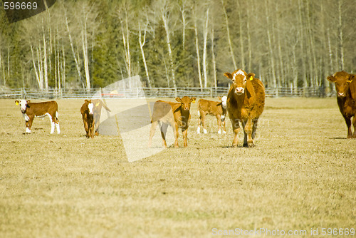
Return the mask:
[[[184,147],[188,146],[187,143],[187,133],[188,133],[188,123],[190,120],[190,104],[195,102],[197,98],[189,98],[184,96],[183,98],[176,98],[177,102],[165,102],[163,100],[157,100],[153,106],[152,120],[151,120],[151,130],[150,130],[150,140],[148,146],[151,147],[152,137],[155,135],[155,130],[157,124],[161,129],[162,135],[162,145],[167,148],[166,143],[166,132],[168,125],[173,128],[174,134],[174,148],[178,148],[178,129],[182,128]],[[161,124],[162,123],[162,124]]]

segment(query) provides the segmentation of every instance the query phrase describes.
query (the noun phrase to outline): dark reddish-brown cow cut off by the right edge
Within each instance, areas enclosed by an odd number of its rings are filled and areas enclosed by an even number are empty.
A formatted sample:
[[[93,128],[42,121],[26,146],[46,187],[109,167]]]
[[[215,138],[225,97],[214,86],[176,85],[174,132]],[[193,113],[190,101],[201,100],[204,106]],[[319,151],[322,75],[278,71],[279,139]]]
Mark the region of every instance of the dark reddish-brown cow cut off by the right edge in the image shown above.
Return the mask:
[[[328,76],[328,81],[335,83],[337,105],[339,105],[340,113],[345,118],[347,125],[347,138],[356,138],[356,75],[341,71],[334,73],[333,76]],[[353,135],[351,130],[352,117]]]

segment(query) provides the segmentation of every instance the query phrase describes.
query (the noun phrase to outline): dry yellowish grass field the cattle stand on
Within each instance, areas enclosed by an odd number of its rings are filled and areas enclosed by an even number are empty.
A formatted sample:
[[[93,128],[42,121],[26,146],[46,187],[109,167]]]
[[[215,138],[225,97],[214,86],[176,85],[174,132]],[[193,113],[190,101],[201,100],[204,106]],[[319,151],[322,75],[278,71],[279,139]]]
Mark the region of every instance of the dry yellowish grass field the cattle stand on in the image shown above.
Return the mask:
[[[82,104],[58,100],[60,135],[48,118],[26,135],[19,106],[0,100],[0,237],[356,229],[356,140],[335,98],[267,98],[255,148],[231,148],[231,124],[219,135],[213,117],[197,135],[195,103],[188,148],[137,162],[117,136],[85,138]]]

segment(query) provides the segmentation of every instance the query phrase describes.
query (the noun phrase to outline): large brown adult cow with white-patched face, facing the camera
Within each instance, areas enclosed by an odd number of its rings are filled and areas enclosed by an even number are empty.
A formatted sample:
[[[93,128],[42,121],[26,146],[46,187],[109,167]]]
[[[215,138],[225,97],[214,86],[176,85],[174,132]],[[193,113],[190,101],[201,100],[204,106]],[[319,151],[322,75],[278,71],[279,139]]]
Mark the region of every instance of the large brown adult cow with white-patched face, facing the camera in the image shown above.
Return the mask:
[[[227,110],[234,130],[232,146],[238,144],[237,134],[241,121],[244,128],[244,147],[253,146],[257,122],[265,104],[265,88],[263,83],[255,78],[254,73],[246,73],[238,69],[231,73],[224,73],[232,84],[227,95]]]

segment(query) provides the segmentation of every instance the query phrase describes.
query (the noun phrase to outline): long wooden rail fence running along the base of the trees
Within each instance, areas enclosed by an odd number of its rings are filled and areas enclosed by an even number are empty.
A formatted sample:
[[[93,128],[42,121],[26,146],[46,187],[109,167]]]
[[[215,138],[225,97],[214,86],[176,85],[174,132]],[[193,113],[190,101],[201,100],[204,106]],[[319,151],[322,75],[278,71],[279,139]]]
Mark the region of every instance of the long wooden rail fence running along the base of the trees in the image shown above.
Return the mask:
[[[226,95],[229,91],[227,87],[219,88],[129,88],[117,90],[115,88],[93,88],[85,89],[0,89],[0,98],[32,98],[32,99],[52,99],[52,98],[174,98],[187,95],[197,98],[214,98]],[[325,88],[266,88],[266,97],[330,97],[335,95],[335,91],[325,92]]]

